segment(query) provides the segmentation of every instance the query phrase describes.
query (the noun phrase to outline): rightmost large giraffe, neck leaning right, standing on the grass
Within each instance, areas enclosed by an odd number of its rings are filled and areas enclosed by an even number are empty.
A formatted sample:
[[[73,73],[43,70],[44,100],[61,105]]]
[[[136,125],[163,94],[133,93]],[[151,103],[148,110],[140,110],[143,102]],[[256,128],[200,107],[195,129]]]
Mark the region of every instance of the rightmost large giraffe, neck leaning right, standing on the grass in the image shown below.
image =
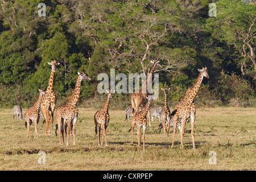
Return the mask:
[[[176,134],[177,127],[177,119],[181,119],[181,129],[180,129],[180,148],[183,149],[183,137],[184,137],[184,129],[185,129],[185,121],[190,117],[191,118],[191,136],[193,143],[193,150],[196,150],[195,140],[194,140],[194,124],[196,118],[196,105],[194,103],[194,98],[200,88],[200,85],[203,81],[204,77],[209,78],[207,67],[203,67],[203,69],[198,69],[199,76],[196,79],[195,84],[188,89],[184,98],[175,106],[175,110],[172,111],[174,114],[174,138],[172,139],[172,147],[174,146],[174,139]]]

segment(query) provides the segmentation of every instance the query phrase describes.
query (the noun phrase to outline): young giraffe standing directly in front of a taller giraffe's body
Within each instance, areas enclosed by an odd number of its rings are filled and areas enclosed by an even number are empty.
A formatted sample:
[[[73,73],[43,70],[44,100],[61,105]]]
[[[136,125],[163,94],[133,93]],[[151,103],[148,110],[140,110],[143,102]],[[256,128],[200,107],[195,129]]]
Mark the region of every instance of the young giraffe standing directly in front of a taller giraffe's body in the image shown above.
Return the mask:
[[[138,137],[138,146],[141,147],[141,127],[143,127],[143,151],[145,150],[145,133],[146,133],[146,128],[147,128],[147,113],[148,110],[150,108],[150,103],[152,102],[152,100],[148,99],[147,100],[147,104],[145,107],[143,107],[143,109],[133,117],[133,121],[131,122],[131,129],[129,131],[131,131],[131,144],[133,144],[134,140],[133,140],[133,129],[135,124],[138,127],[137,130],[137,137]]]

